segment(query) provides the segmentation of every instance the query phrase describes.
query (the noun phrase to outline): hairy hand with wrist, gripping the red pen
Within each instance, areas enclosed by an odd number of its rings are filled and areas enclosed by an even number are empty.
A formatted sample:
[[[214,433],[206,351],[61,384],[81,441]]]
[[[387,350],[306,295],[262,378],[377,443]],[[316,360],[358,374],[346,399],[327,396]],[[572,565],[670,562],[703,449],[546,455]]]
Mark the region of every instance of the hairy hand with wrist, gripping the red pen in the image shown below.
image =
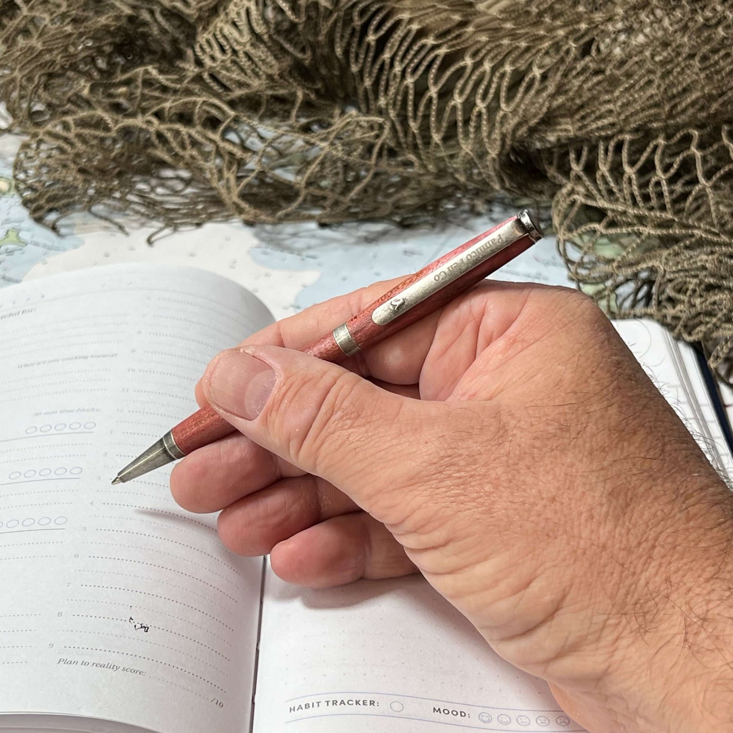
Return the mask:
[[[213,360],[241,434],[176,500],[286,581],[419,570],[592,733],[733,729],[732,498],[605,316],[485,283],[345,367],[290,350],[388,287]]]

